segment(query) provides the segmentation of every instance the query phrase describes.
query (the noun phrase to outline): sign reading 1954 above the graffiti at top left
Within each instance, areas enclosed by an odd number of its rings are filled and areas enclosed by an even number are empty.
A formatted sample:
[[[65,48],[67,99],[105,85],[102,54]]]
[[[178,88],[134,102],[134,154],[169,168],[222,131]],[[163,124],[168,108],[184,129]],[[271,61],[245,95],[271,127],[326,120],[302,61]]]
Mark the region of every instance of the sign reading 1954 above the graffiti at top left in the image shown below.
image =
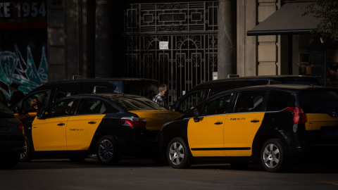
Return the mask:
[[[0,3],[0,18],[46,17],[45,2],[4,2]]]

